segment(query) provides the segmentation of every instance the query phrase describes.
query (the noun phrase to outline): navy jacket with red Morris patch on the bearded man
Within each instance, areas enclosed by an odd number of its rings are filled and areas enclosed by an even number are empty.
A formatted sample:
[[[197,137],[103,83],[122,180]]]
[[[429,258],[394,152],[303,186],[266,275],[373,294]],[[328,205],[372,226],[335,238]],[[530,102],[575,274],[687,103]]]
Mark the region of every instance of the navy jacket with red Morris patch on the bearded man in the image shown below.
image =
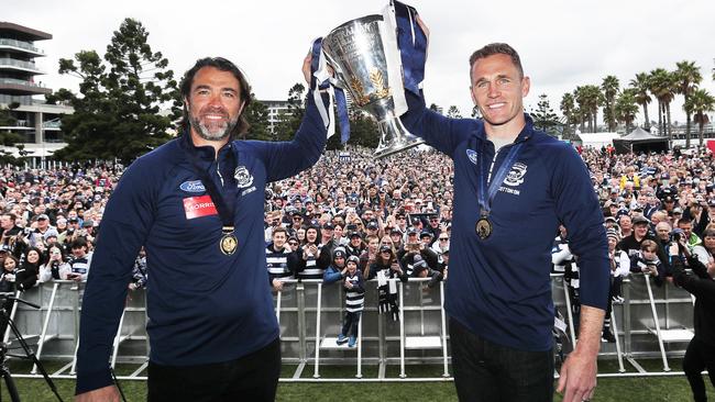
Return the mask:
[[[151,361],[228,361],[278,337],[266,287],[264,189],[312,166],[324,144],[326,127],[308,97],[306,116],[290,142],[234,141],[217,158],[212,147],[195,147],[186,133],[127,169],[102,217],[84,295],[77,393],[112,382],[109,354],[142,245]],[[222,222],[187,153],[199,156],[200,167],[233,204],[233,255],[219,248]]]

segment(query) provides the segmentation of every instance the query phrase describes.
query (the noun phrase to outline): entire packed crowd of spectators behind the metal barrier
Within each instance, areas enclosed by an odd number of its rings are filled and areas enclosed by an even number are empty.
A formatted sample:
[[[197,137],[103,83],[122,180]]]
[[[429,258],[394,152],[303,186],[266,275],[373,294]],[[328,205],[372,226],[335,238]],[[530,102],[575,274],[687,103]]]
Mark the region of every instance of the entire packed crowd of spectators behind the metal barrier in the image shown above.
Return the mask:
[[[614,301],[623,300],[619,279],[628,271],[651,275],[657,284],[668,280],[667,245],[672,241],[681,244],[683,260],[696,258],[715,268],[715,165],[708,149],[639,155],[579,150],[615,243]],[[53,278],[85,279],[103,208],[121,172],[106,166],[0,170],[0,290],[23,290]],[[374,159],[363,148],[326,153],[311,169],[265,191],[268,284],[282,290],[286,278],[337,281],[352,256],[365,280],[380,271],[400,279],[430,278],[430,287],[446,280],[452,181],[451,161],[433,150],[411,149],[385,159]],[[578,256],[562,258],[565,228],[554,236],[554,269],[568,270],[574,284]],[[629,269],[624,272],[625,264]],[[145,280],[142,253],[131,288]]]

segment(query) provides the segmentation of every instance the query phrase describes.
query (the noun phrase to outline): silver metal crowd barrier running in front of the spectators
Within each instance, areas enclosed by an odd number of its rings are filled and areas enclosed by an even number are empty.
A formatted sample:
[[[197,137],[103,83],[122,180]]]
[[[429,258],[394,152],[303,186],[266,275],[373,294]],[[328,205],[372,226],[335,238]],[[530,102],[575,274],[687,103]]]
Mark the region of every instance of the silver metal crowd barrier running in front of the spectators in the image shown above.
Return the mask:
[[[287,280],[284,290],[275,294],[275,313],[280,326],[284,367],[292,372],[280,381],[444,381],[449,372],[449,330],[443,310],[444,283],[426,287],[429,278],[398,281],[399,320],[378,314],[376,282],[365,283],[365,304],[354,348],[338,345],[336,338],[342,327],[344,297],[341,284],[321,280]],[[53,281],[41,283],[19,297],[42,305],[34,310],[15,303],[12,317],[20,332],[43,360],[66,362],[51,376],[74,378],[78,345],[79,313],[84,283]],[[688,292],[670,283],[652,287],[648,278],[632,275],[624,280],[623,304],[614,304],[612,331],[615,344],[602,343],[600,359],[618,361],[618,372],[600,377],[673,376],[668,359],[682,357],[693,327],[693,299]],[[127,308],[114,339],[111,366],[136,365],[136,369],[120,379],[146,379],[148,356],[146,336],[146,301],[143,290],[130,291]],[[565,313],[569,336],[578,342],[576,317],[571,311],[568,288],[562,276],[552,275],[554,304]],[[9,338],[9,339],[8,339]],[[4,334],[10,340],[12,335]],[[639,359],[662,359],[661,371],[647,371]],[[627,372],[625,362],[635,370]],[[364,366],[377,368],[376,377],[366,378]],[[431,378],[415,378],[409,368],[416,365],[441,367],[441,373]],[[331,378],[326,367],[355,368],[354,378]],[[391,377],[388,367],[399,367]],[[329,370],[329,369],[328,369]],[[40,377],[36,367],[16,377]]]

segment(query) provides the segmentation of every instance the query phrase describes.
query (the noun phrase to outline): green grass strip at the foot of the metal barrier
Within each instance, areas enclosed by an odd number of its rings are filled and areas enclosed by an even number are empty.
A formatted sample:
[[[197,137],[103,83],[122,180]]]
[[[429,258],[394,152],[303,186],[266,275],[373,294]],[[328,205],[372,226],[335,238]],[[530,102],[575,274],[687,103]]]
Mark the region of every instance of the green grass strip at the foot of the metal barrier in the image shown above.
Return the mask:
[[[640,361],[646,369],[656,370],[660,366],[659,360]],[[673,369],[679,369],[679,361],[671,361]],[[53,362],[45,364],[48,371],[52,372],[58,365]],[[601,364],[602,372],[613,372],[615,365],[612,362]],[[29,368],[25,362],[13,362],[10,366],[12,372],[28,372]],[[293,372],[293,367],[285,367],[284,377]],[[133,370],[133,367],[120,368],[119,375]],[[388,367],[386,376],[396,377],[399,367]],[[631,370],[632,371],[632,370]],[[410,366],[407,367],[408,377],[430,376],[437,377],[441,373],[439,366]],[[310,378],[312,369],[304,373],[305,378]],[[352,378],[354,368],[352,367],[322,367],[321,375],[323,378]],[[365,378],[376,376],[374,367],[365,367],[363,371]],[[59,390],[59,394],[65,401],[73,400],[74,381],[54,380]],[[715,401],[715,390],[705,379],[708,387],[708,397]],[[44,402],[56,401],[50,388],[42,379],[21,379],[15,378],[20,397],[22,401]],[[10,401],[4,383],[2,386],[2,401]],[[144,401],[146,384],[144,381],[121,382],[122,389],[128,401]],[[278,401],[310,401],[310,402],[372,402],[372,401],[457,401],[454,384],[452,382],[330,382],[330,383],[288,383],[282,382],[278,386]],[[559,395],[554,401],[561,401]],[[650,378],[603,378],[598,379],[598,388],[593,401],[598,402],[685,402],[692,401],[690,387],[684,377],[650,377]]]

